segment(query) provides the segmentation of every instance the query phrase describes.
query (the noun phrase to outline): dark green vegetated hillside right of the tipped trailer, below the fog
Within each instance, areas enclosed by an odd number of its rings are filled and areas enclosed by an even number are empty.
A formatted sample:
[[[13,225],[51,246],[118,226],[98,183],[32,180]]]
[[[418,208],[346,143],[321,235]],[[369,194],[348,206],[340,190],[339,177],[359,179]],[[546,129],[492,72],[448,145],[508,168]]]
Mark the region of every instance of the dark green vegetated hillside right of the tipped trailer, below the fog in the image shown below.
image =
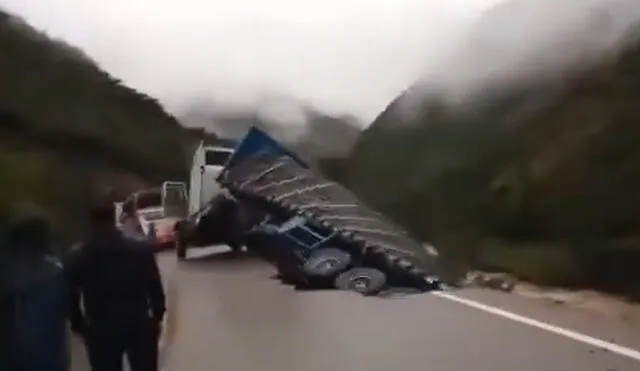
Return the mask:
[[[640,44],[472,107],[401,96],[338,170],[449,261],[640,294]]]

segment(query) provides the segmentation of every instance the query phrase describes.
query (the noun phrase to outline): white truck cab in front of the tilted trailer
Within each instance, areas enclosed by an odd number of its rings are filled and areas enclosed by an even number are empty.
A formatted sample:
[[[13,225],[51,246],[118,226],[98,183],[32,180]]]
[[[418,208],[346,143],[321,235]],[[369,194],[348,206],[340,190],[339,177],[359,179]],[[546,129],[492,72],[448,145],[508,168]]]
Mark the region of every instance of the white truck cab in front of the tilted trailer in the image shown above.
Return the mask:
[[[220,194],[222,187],[216,178],[233,151],[232,147],[205,145],[203,142],[195,150],[189,179],[189,215]]]

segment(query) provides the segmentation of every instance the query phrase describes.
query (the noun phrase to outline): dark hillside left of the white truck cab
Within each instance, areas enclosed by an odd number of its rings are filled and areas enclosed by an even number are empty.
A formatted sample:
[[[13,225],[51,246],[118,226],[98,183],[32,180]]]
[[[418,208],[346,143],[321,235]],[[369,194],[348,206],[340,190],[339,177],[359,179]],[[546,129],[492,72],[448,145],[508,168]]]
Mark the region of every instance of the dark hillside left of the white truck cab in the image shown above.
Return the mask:
[[[69,235],[98,191],[183,178],[192,139],[82,51],[0,12],[0,215],[41,205]]]

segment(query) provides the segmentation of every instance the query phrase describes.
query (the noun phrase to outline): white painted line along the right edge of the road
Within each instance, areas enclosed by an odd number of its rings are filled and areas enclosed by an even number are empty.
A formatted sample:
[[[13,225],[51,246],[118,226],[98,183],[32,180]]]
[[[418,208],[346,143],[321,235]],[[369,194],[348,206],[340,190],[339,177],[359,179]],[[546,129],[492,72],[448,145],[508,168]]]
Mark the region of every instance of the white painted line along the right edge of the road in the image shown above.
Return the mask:
[[[618,355],[627,357],[627,358],[631,358],[633,360],[636,361],[640,361],[640,351],[631,349],[631,348],[627,348],[618,344],[614,344],[608,341],[604,341],[601,339],[597,339],[594,337],[591,337],[589,335],[584,335],[581,334],[579,332],[575,332],[575,331],[571,331],[571,330],[567,330],[564,329],[562,327],[558,327],[558,326],[554,326],[545,322],[541,322],[541,321],[537,321],[525,316],[521,316],[519,314],[515,314],[512,312],[508,312],[506,310],[500,309],[500,308],[495,308],[486,304],[482,304],[482,303],[478,303],[475,302],[473,300],[468,300],[468,299],[464,299],[452,294],[448,294],[445,292],[432,292],[433,295],[436,295],[438,297],[447,299],[447,300],[451,300],[454,301],[456,303],[462,304],[462,305],[466,305],[468,307],[474,308],[474,309],[478,309],[481,310],[483,312],[486,313],[490,313],[502,318],[506,318],[509,320],[512,320],[514,322],[518,322],[518,323],[522,323],[531,327],[535,327],[538,328],[540,330],[544,330],[547,332],[551,332],[554,333],[556,335],[560,335],[560,336],[564,336],[567,337],[569,339],[573,339],[575,341],[579,341],[581,343],[584,344],[588,344],[588,345],[592,345],[594,347],[598,347],[598,348],[602,348],[602,349],[606,349],[612,353],[616,353]]]

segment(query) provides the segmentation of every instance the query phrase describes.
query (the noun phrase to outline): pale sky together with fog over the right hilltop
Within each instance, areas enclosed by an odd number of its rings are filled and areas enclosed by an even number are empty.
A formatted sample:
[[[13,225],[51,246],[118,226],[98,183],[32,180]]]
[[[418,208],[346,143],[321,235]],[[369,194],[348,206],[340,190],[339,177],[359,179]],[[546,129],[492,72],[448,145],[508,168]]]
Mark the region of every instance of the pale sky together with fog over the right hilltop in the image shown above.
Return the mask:
[[[638,0],[0,5],[81,47],[178,115],[194,102],[242,106],[274,95],[354,115],[363,125],[419,78],[417,96],[438,88],[460,97],[496,81],[564,73],[601,55],[640,18]]]

